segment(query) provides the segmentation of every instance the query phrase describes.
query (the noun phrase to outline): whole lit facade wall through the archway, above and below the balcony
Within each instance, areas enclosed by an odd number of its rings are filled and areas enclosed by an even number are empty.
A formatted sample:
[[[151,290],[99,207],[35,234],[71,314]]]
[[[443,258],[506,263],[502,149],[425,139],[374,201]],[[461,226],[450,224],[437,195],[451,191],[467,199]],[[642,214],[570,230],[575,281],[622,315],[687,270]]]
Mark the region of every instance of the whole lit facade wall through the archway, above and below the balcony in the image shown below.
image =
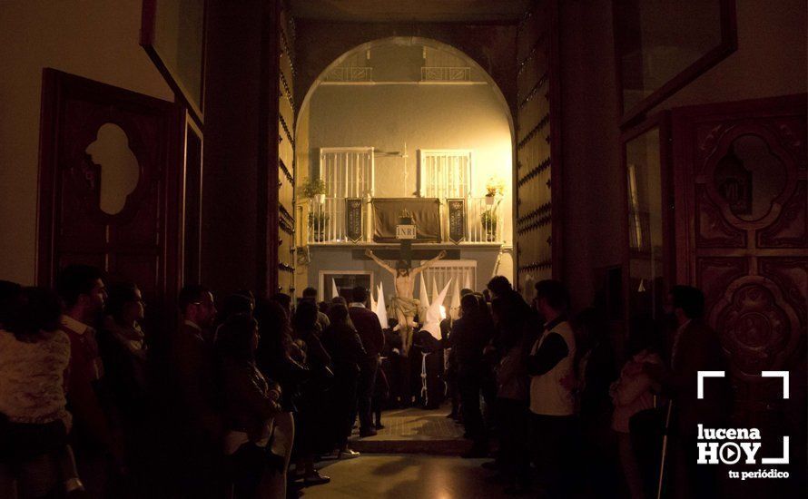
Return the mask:
[[[478,262],[481,288],[495,272],[513,277],[510,122],[497,90],[476,64],[456,54],[442,55],[419,46],[381,45],[371,49],[370,58],[366,51],[346,56],[341,64],[345,67],[372,66],[374,83],[324,83],[311,93],[299,115],[298,133],[308,129],[309,146],[307,152],[298,152],[298,167],[308,163],[310,174],[318,175],[321,147],[374,147],[380,152],[375,156],[376,196],[410,197],[419,189],[419,150],[472,150],[471,195],[484,196],[492,176],[506,184],[499,204],[505,240],[501,259],[499,248],[461,247],[461,259]],[[423,64],[466,64],[471,67],[469,82],[419,83]],[[312,247],[310,257],[311,286],[319,285],[320,270],[370,270],[375,282],[380,279],[392,289],[387,273],[368,260],[352,259],[350,247]]]

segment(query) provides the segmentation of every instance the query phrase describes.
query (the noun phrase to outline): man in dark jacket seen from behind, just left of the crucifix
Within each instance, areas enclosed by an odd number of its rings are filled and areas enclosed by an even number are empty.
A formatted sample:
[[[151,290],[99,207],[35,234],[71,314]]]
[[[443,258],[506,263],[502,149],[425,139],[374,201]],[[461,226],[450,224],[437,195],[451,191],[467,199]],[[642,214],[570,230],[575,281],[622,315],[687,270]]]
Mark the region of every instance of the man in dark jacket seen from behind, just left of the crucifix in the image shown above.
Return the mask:
[[[358,389],[358,406],[360,413],[360,436],[376,435],[370,417],[370,398],[373,396],[373,387],[376,385],[376,371],[381,364],[381,350],[384,348],[384,333],[381,330],[379,317],[375,312],[365,307],[368,300],[368,291],[361,286],[353,289],[353,301],[350,303],[348,313],[357,333],[362,340],[362,346],[368,357],[360,364],[360,383]]]

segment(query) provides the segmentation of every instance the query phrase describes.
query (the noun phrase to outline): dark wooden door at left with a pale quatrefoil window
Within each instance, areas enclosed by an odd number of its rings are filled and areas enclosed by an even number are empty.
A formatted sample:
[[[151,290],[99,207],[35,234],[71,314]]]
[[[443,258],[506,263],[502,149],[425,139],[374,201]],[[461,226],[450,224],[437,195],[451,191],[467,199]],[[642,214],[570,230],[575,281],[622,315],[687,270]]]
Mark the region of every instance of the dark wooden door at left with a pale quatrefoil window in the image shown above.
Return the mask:
[[[70,263],[94,265],[135,282],[154,316],[181,274],[182,110],[53,69],[42,108],[39,284]]]

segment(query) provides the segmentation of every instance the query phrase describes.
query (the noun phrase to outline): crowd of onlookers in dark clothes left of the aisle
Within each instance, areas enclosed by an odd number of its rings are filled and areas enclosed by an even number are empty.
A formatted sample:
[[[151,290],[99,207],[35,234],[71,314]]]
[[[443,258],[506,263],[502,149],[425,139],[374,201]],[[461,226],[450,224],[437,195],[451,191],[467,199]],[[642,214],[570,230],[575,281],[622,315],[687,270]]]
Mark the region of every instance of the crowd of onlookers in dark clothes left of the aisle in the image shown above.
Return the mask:
[[[278,497],[330,478],[354,422],[375,435],[384,334],[364,308],[317,291],[179,294],[152,335],[132,283],[72,265],[55,289],[0,283],[0,496]],[[289,485],[292,487],[289,487]]]

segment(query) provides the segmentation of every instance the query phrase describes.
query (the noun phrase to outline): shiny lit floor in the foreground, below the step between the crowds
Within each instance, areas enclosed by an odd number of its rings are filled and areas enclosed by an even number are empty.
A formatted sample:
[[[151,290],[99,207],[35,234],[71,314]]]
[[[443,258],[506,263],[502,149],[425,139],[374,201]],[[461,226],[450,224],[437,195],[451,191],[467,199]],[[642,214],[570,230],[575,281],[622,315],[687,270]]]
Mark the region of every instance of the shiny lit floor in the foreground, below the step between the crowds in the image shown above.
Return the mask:
[[[482,460],[435,455],[361,455],[330,462],[331,483],[304,489],[306,499],[474,499],[504,497],[486,481]]]

